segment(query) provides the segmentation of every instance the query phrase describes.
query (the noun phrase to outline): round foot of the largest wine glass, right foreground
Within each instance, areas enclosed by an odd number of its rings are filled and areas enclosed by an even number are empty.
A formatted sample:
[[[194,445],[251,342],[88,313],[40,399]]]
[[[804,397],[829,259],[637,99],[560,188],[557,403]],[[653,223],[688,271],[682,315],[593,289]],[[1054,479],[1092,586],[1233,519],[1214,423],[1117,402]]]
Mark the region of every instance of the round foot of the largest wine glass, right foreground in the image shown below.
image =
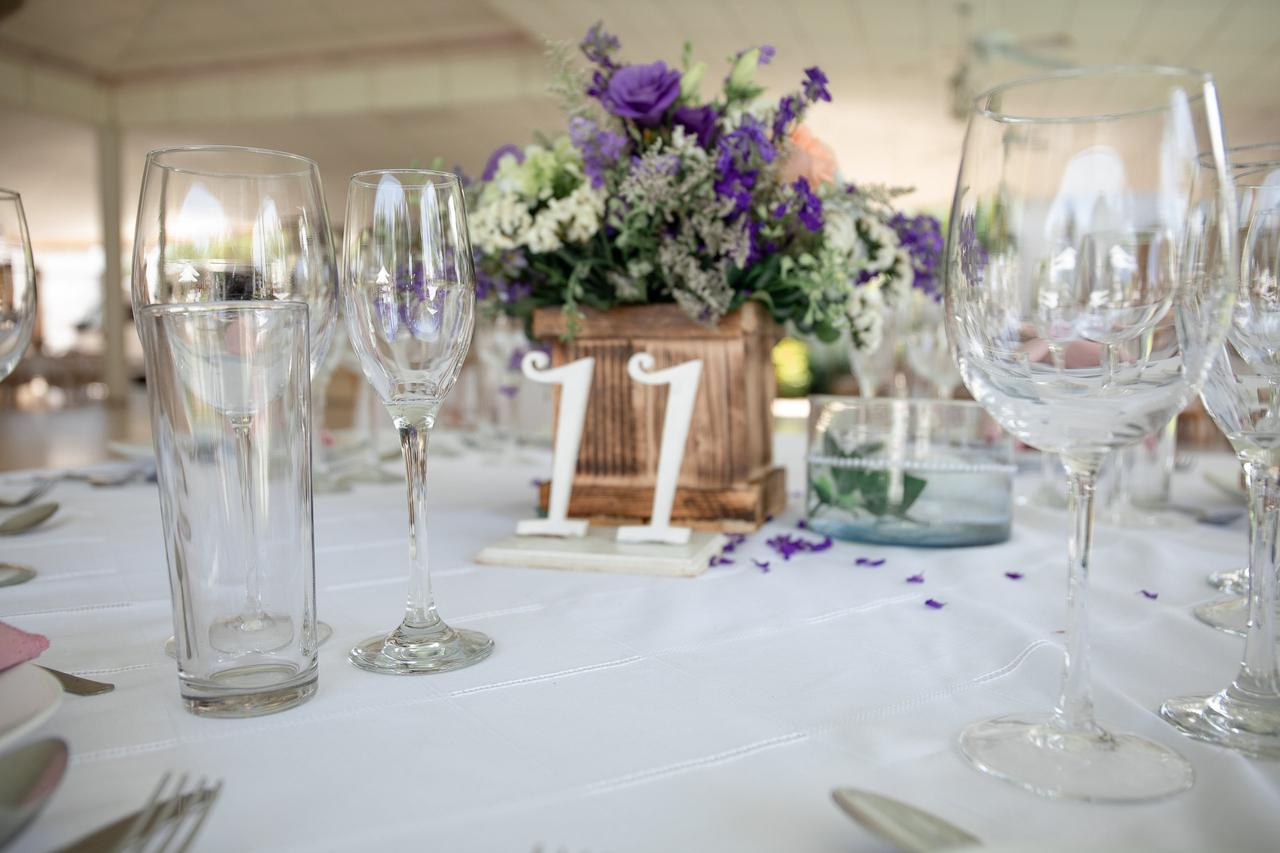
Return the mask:
[[[1196,772],[1172,749],[1130,734],[1069,731],[1051,715],[975,722],[960,751],[978,770],[1041,797],[1132,803],[1172,797]]]

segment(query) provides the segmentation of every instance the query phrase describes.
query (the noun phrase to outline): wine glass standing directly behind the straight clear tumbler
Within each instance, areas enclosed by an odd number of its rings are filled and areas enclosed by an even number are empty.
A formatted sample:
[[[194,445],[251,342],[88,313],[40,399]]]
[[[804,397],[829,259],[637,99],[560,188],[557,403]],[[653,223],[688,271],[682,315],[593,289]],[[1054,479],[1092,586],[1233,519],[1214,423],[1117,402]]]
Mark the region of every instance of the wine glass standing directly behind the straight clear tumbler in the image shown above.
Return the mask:
[[[147,154],[133,238],[133,310],[156,304],[306,302],[310,366],[324,362],[337,311],[337,269],[320,170],[307,158],[225,145]],[[146,341],[143,341],[146,345]],[[292,620],[262,608],[261,555],[253,511],[252,414],[229,412],[244,507],[242,612],[215,621],[211,644],[247,654],[282,648]],[[317,624],[317,640],[329,633]]]

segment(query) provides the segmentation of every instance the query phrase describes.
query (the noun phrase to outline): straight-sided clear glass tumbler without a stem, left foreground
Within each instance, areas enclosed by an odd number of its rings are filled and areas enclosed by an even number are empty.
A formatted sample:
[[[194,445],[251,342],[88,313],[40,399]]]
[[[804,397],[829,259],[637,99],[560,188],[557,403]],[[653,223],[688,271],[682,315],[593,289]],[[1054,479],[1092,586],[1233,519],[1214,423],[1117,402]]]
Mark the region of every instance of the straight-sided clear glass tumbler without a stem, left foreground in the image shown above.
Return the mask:
[[[316,690],[305,302],[142,310],[178,681],[244,717]]]

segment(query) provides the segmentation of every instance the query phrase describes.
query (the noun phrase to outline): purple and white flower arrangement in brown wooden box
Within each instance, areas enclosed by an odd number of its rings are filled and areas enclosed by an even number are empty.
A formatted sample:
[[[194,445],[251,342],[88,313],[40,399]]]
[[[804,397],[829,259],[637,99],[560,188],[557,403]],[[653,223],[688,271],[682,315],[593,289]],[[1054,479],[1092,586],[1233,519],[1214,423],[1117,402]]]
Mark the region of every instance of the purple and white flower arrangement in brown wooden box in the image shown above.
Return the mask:
[[[901,191],[837,177],[831,150],[803,124],[809,109],[831,100],[817,67],[794,91],[762,100],[755,69],[774,51],[750,47],[731,58],[707,100],[707,65],[687,45],[678,68],[623,63],[618,40],[600,24],[577,47],[585,65],[572,47],[552,49],[567,133],[498,149],[471,187],[477,296],[490,311],[524,318],[535,337],[556,339],[558,361],[588,352],[622,357],[655,336],[667,341],[657,347],[659,359],[676,361],[671,339],[703,342],[684,357],[704,359],[703,392],[710,386],[728,400],[700,400],[681,489],[755,484],[742,510],[751,526],[785,501],[768,441],[768,356],[778,325],[874,348],[886,302],[913,286],[936,289],[941,238],[928,234],[938,234],[937,222],[895,211]],[[722,357],[708,355],[713,339],[723,343]],[[628,402],[625,371],[598,365],[596,377],[591,409],[599,411],[594,425],[588,414],[571,512],[643,516],[657,464],[645,450],[657,444],[654,412]],[[602,386],[609,382],[618,387]],[[746,392],[735,397],[742,383]],[[604,406],[600,396],[611,391],[617,405]],[[713,411],[721,405],[726,411]],[[604,423],[605,407],[626,416]],[[746,434],[730,434],[731,424]],[[600,459],[593,426],[613,433]],[[617,459],[620,430],[635,459]],[[751,459],[735,447],[744,443]],[[599,506],[590,497],[595,475],[596,485],[613,489]],[[626,487],[640,489],[635,511],[620,511],[631,506],[618,502],[616,489]],[[685,497],[677,492],[675,517],[701,520],[704,510],[690,508],[699,496]],[[709,505],[721,512],[713,519],[724,517],[723,500]]]

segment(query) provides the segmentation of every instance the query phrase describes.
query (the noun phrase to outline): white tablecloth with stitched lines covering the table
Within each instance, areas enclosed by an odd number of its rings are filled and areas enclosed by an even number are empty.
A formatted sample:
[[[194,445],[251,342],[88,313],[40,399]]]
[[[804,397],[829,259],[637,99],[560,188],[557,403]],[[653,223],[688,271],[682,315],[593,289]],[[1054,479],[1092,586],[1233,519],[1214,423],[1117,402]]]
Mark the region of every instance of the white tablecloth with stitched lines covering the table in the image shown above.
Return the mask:
[[[796,474],[795,437],[780,438]],[[1226,457],[1201,460],[1180,475],[1181,500],[1212,496],[1201,479],[1210,465],[1231,470]],[[179,703],[160,648],[170,622],[155,487],[59,485],[61,517],[3,543],[5,558],[41,574],[0,589],[0,619],[50,637],[42,662],[116,690],[67,697],[41,730],[70,743],[72,766],[15,849],[47,849],[137,808],[166,770],[227,783],[197,845],[206,850],[879,849],[831,803],[838,785],[904,798],[988,843],[1280,847],[1280,765],[1184,739],[1153,711],[1234,672],[1240,640],[1189,607],[1211,594],[1206,573],[1243,561],[1243,523],[1100,529],[1098,715],[1176,747],[1197,781],[1167,802],[1091,806],[983,776],[955,745],[972,720],[1056,698],[1061,511],[1019,507],[997,547],[837,543],[783,562],[764,540],[794,528],[792,500],[732,565],[691,580],[475,565],[471,555],[529,515],[530,479],[545,473],[544,460],[431,462],[440,611],[497,649],[421,678],[346,662],[348,644],[401,612],[403,489],[319,496],[320,615],[335,630],[320,689],[251,720],[198,719]],[[886,562],[859,567],[860,556]],[[923,584],[905,583],[916,573]],[[946,607],[925,607],[931,597]]]

